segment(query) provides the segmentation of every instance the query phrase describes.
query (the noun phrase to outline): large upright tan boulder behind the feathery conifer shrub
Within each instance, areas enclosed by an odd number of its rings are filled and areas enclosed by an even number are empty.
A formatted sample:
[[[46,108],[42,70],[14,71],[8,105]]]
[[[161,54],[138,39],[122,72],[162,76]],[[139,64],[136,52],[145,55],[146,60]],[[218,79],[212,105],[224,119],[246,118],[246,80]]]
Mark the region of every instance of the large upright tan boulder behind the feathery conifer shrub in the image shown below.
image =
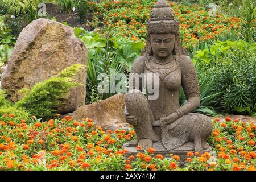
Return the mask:
[[[74,35],[74,30],[64,24],[48,19],[37,19],[22,30],[2,74],[1,85],[7,97],[19,101],[20,89],[31,89],[37,82],[56,76],[73,64],[86,65],[88,50]],[[82,83],[65,97],[60,113],[76,110],[85,102],[86,69],[75,81]]]

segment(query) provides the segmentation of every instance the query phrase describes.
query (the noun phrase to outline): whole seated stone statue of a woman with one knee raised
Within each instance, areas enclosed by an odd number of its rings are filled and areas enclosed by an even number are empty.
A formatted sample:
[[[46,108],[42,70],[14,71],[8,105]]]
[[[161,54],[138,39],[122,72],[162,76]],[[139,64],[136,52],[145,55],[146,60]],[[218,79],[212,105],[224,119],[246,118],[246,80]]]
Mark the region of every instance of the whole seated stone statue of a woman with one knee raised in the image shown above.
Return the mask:
[[[212,132],[210,119],[203,114],[191,113],[200,104],[200,92],[195,66],[185,55],[179,38],[179,21],[164,0],[159,0],[147,21],[147,42],[144,55],[138,57],[131,73],[144,73],[147,84],[159,87],[159,97],[149,100],[142,86],[135,88],[130,80],[125,96],[123,115],[134,126],[137,140],[124,144],[130,154],[136,146],[142,150],[155,148],[159,154],[185,155],[187,151],[211,151],[206,143]],[[147,81],[147,73],[156,73],[158,85]],[[182,85],[187,102],[180,107],[179,90]],[[146,90],[147,96],[149,95]]]

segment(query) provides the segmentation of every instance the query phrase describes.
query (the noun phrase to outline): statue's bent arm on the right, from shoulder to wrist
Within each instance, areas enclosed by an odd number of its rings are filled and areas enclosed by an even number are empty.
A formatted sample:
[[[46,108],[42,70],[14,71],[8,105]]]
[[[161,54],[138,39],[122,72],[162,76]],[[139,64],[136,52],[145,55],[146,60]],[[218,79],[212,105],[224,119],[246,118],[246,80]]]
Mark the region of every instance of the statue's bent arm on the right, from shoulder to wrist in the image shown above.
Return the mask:
[[[181,60],[181,85],[187,102],[176,110],[179,117],[197,109],[200,105],[200,91],[195,65],[188,56]]]

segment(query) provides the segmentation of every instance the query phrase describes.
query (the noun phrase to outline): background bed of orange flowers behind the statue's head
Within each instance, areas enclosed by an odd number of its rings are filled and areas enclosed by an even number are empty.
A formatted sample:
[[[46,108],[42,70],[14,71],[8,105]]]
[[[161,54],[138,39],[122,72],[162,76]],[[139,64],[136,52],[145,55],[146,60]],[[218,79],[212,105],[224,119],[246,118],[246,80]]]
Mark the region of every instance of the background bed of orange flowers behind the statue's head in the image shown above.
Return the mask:
[[[114,27],[115,36],[125,36],[131,40],[146,39],[146,20],[150,19],[150,11],[154,1],[88,1],[89,9],[95,15],[108,17],[106,25]],[[155,1],[156,2],[156,1]],[[215,15],[199,5],[185,6],[180,3],[169,2],[175,12],[175,18],[180,20],[180,38],[185,48],[192,48],[196,44],[215,39],[221,34],[238,30],[240,20],[216,12]]]

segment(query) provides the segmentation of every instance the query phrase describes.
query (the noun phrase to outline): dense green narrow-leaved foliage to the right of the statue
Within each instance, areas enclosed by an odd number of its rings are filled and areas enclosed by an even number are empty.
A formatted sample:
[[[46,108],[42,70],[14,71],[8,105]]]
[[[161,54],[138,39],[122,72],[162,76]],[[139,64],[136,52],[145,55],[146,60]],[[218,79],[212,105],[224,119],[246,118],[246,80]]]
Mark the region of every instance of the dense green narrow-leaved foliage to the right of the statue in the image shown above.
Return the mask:
[[[254,114],[255,112],[255,43],[216,42],[202,51],[197,51],[195,61],[208,65],[214,86],[209,94],[220,92],[214,100],[214,108]]]

